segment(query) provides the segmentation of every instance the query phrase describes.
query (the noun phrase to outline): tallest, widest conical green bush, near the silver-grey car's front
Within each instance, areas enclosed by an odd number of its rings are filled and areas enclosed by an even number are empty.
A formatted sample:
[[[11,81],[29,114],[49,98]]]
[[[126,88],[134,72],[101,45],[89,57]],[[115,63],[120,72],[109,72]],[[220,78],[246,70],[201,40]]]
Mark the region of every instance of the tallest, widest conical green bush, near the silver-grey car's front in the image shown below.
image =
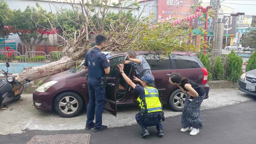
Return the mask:
[[[234,50],[228,54],[228,68],[225,74],[227,80],[237,82],[240,76],[242,75],[242,65],[243,60],[241,57],[238,57]]]

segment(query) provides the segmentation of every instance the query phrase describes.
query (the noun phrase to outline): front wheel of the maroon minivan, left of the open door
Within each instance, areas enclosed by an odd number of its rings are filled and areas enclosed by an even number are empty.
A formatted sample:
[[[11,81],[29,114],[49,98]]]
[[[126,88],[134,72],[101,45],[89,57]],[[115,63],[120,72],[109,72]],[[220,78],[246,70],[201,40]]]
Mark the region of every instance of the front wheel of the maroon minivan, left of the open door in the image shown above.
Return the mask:
[[[84,100],[74,92],[62,93],[54,101],[55,111],[61,117],[75,117],[83,110],[83,107]]]

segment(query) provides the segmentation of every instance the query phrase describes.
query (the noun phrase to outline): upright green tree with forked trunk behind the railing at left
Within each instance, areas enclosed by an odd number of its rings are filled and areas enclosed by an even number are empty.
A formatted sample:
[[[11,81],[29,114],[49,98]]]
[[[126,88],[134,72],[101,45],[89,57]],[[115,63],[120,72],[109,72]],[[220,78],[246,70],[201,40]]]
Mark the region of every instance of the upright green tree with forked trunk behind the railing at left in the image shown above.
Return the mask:
[[[42,17],[44,15],[44,17]],[[44,35],[52,34],[55,30],[48,30],[51,15],[42,7],[36,4],[36,8],[27,6],[24,11],[13,10],[8,18],[4,21],[7,25],[6,29],[13,34],[18,34],[21,42],[24,44],[26,51],[36,51],[36,47],[46,40]],[[48,31],[47,31],[48,30]],[[30,56],[34,56],[30,54]]]

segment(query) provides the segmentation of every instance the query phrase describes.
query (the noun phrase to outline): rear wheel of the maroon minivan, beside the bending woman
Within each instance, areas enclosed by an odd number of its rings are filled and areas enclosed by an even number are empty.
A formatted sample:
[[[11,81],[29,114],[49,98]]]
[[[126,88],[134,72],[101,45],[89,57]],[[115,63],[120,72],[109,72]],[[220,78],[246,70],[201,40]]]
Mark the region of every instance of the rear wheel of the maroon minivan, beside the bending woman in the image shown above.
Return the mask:
[[[186,94],[181,89],[172,92],[169,98],[169,106],[174,111],[183,111]],[[182,97],[182,98],[181,98]]]

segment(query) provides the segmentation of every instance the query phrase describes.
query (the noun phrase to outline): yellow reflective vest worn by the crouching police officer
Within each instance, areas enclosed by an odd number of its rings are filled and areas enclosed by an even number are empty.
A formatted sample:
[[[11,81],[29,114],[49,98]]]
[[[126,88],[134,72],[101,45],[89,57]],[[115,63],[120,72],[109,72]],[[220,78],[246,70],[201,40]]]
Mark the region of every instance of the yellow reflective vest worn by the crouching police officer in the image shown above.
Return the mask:
[[[162,111],[162,105],[159,100],[158,90],[154,87],[144,87],[145,90],[145,101],[147,105],[148,112]],[[141,111],[145,111],[145,106],[143,100],[138,97],[137,101],[140,102]]]

